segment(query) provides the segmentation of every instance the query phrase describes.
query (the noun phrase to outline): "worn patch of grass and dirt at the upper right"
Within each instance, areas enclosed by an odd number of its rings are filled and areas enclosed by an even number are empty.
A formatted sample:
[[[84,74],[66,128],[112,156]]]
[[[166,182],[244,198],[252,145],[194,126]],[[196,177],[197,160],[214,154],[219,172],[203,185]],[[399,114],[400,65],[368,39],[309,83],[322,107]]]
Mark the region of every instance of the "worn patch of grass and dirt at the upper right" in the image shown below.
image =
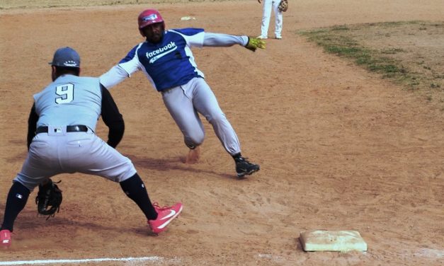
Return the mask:
[[[297,33],[325,52],[422,92],[428,101],[444,102],[444,22],[335,25]]]

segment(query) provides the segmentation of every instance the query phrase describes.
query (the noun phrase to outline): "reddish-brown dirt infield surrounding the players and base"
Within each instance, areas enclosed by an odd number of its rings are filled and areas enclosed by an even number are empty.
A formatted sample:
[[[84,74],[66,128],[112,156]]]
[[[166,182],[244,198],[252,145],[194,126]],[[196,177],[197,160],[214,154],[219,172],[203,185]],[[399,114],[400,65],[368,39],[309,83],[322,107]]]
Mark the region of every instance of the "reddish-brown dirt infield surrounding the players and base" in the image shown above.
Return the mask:
[[[254,0],[1,11],[0,215],[26,155],[32,95],[50,82],[47,62],[55,49],[74,47],[82,74],[99,76],[142,41],[136,19],[147,7],[158,8],[168,28],[260,33],[261,5]],[[290,0],[283,40],[269,39],[266,50],[194,50],[244,155],[261,164],[246,180],[234,177],[234,162],[208,123],[200,163],[183,163],[181,132],[159,93],[135,74],[111,90],[126,123],[118,150],[135,163],[153,200],[183,202],[180,218],[148,236],[144,217],[118,184],[59,175],[60,213],[49,221],[36,217],[34,191],[0,262],[149,257],[79,265],[443,265],[443,111],[295,34],[443,19],[441,0]],[[103,122],[98,134],[106,138]],[[368,252],[305,253],[298,237],[311,229],[359,231]]]

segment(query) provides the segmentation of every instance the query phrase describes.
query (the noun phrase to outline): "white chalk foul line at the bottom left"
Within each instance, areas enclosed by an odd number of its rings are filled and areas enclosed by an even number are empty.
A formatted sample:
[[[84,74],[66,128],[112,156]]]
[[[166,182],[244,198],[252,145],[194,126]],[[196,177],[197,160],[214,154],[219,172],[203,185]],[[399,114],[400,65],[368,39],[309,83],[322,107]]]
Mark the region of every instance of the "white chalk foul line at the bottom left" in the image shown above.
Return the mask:
[[[16,261],[0,261],[0,265],[46,265],[55,263],[87,263],[87,262],[108,262],[108,261],[122,261],[122,262],[163,262],[164,258],[139,257],[139,258],[96,258],[96,259],[82,259],[82,260],[16,260]]]

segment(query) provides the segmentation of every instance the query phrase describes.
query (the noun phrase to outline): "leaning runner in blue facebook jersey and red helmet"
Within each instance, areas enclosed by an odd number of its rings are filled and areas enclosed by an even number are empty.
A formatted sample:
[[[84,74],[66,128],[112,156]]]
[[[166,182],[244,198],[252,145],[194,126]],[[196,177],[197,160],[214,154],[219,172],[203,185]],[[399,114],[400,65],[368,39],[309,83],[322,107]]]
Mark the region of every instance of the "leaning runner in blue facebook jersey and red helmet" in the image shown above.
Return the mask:
[[[242,45],[251,51],[264,49],[265,42],[248,36],[206,33],[201,28],[165,30],[164,19],[154,9],[138,17],[140,34],[146,41],[128,52],[117,65],[103,74],[103,86],[110,89],[136,71],[142,70],[152,86],[162,94],[164,104],[183,133],[190,149],[187,161],[198,161],[205,132],[199,113],[215,130],[224,149],[234,158],[237,176],[251,175],[259,166],[241,155],[239,139],[220,109],[205,76],[195,64],[192,47]]]

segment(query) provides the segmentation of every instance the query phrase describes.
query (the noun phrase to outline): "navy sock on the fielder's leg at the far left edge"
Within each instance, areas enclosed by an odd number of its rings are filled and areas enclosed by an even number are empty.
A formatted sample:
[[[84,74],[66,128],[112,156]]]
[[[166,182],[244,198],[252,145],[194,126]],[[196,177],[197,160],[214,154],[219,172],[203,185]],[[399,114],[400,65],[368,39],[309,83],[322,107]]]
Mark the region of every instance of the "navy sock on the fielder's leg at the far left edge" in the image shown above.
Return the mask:
[[[6,208],[0,230],[13,231],[14,221],[28,202],[29,195],[30,190],[28,188],[19,182],[13,182],[6,199]]]

